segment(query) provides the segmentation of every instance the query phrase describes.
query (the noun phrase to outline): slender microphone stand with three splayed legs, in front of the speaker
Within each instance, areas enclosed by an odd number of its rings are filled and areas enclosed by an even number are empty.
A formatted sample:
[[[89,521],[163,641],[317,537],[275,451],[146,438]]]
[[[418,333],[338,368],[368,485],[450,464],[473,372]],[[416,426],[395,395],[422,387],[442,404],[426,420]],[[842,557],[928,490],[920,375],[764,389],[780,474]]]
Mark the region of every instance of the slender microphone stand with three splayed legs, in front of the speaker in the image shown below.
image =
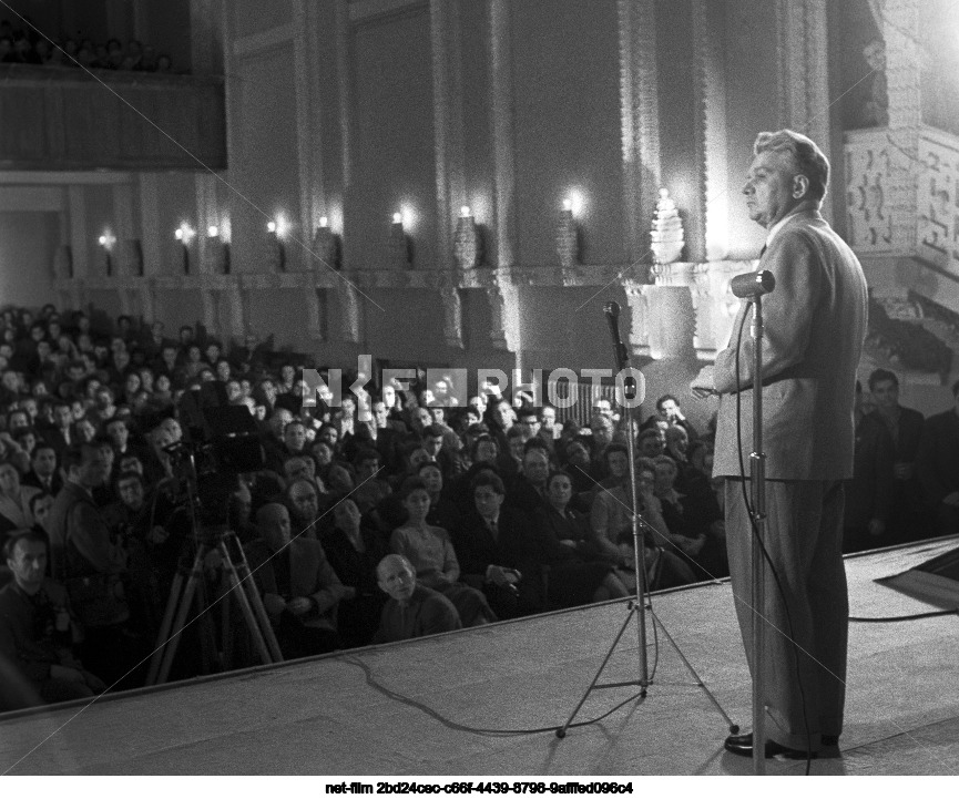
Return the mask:
[[[570,714],[569,718],[563,723],[561,727],[557,729],[557,738],[565,738],[567,730],[575,718],[577,714],[580,711],[580,708],[585,704],[590,694],[598,688],[620,688],[623,686],[635,685],[640,687],[640,697],[645,698],[646,689],[652,683],[649,670],[649,659],[646,657],[646,608],[650,608],[650,614],[653,617],[653,622],[659,622],[660,627],[663,631],[663,634],[666,636],[666,639],[672,644],[673,648],[676,651],[676,654],[682,659],[683,665],[690,672],[690,674],[695,679],[695,684],[697,687],[702,688],[706,696],[708,696],[710,700],[730,723],[730,730],[735,734],[738,731],[738,726],[734,725],[730,717],[726,715],[725,710],[720,706],[720,703],[716,701],[715,697],[710,693],[708,688],[706,688],[703,680],[696,674],[692,664],[686,659],[683,653],[680,651],[680,647],[676,646],[676,642],[673,641],[673,637],[669,634],[665,626],[659,618],[656,618],[655,614],[652,613],[652,605],[650,603],[650,588],[646,580],[646,556],[645,556],[645,545],[643,541],[640,540],[640,526],[644,530],[649,530],[652,534],[659,534],[655,527],[649,524],[642,515],[639,513],[639,509],[636,506],[636,462],[635,462],[635,434],[633,431],[633,416],[632,408],[639,406],[643,399],[645,393],[645,383],[643,381],[643,376],[635,370],[630,368],[630,355],[626,346],[623,344],[620,338],[620,326],[619,326],[619,317],[620,317],[620,306],[616,303],[606,303],[603,311],[606,315],[606,320],[610,325],[610,332],[613,339],[613,352],[615,357],[616,368],[618,368],[618,381],[621,382],[623,388],[623,406],[628,409],[628,412],[624,413],[625,418],[625,434],[626,434],[626,452],[629,458],[629,481],[630,481],[630,510],[632,512],[632,533],[633,533],[633,573],[636,585],[636,594],[632,597],[628,605],[626,617],[623,619],[623,624],[620,627],[620,632],[613,638],[613,643],[610,645],[610,648],[606,651],[606,655],[603,658],[603,662],[600,664],[600,667],[596,669],[595,675],[593,676],[592,682],[580,699],[579,704],[573,708],[573,711]],[[625,398],[625,375],[630,375],[634,379],[636,379],[636,392],[632,400],[626,402]],[[626,632],[626,627],[629,627],[632,621],[636,622],[636,641],[637,641],[637,654],[639,654],[639,664],[637,664],[637,677],[636,679],[622,680],[618,683],[600,683],[600,676],[606,667],[606,664],[610,662],[610,658],[613,656],[616,647],[619,646],[620,639]]]

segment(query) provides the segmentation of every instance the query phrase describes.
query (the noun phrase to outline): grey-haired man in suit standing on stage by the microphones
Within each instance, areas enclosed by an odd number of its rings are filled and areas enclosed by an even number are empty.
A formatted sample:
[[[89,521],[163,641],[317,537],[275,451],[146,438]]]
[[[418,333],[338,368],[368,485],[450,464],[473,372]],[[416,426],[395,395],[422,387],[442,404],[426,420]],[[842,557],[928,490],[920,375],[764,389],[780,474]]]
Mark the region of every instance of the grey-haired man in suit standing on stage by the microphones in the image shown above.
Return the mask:
[[[753,536],[744,501],[749,486],[741,475],[737,444],[738,427],[748,480],[754,340],[748,330],[738,337],[752,314],[748,304],[739,308],[731,344],[717,356],[712,376],[701,372],[693,389],[702,393],[708,387],[721,395],[713,473],[726,478],[733,594],[747,659],[753,673],[758,668],[763,675],[772,721],[765,755],[835,756],[848,627],[843,481],[853,477],[866,280],[856,256],[819,214],[829,175],[819,147],[792,131],[761,133],[754,156],[743,193],[749,217],[768,232],[759,269],[776,279],[763,299],[765,546],[785,593],[784,602],[767,568],[759,611],[768,627],[759,657],[752,652]],[[726,749],[752,757],[752,734],[730,736]]]

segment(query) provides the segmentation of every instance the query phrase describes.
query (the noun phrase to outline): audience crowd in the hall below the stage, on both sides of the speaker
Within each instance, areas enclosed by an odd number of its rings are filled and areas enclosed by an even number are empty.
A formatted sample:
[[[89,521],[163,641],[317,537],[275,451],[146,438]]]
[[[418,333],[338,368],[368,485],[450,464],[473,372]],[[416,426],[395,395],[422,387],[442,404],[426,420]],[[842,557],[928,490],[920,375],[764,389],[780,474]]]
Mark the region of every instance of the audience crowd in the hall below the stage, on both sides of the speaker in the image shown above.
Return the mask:
[[[0,313],[0,536],[32,529],[49,540],[47,576],[61,582],[86,627],[60,662],[73,669],[68,689],[93,690],[79,669],[108,685],[142,685],[143,669],[130,669],[155,642],[177,567],[192,557],[185,452],[221,406],[248,410],[265,453],[251,471],[229,473],[223,512],[286,656],[635,590],[626,428],[604,398],[585,430],[568,411],[491,386],[451,404],[446,378],[370,383],[358,397],[345,389],[341,407],[331,396],[304,404],[306,357],[249,337],[214,340],[202,327],[172,327],[173,338],[166,329],[129,317],[106,329],[53,306]],[[877,395],[889,375],[874,376]],[[438,401],[450,404],[430,407]],[[674,398],[660,406],[634,441],[640,542],[654,588],[725,574],[711,443],[696,438]],[[884,515],[891,527],[908,520],[896,502],[911,469],[919,512],[949,530],[959,492],[949,426],[959,414],[934,417],[920,436],[915,417],[897,407],[886,396],[879,411],[864,408],[856,478],[866,461],[884,462],[876,444],[888,450],[890,483],[898,452],[895,489],[879,479],[850,486],[858,499],[847,522],[859,519],[861,503],[865,521],[855,524],[863,530]],[[876,541],[885,539],[865,544]],[[404,557],[387,557],[391,549]],[[222,576],[222,565],[206,564],[211,596]],[[200,637],[184,635],[174,676],[197,674],[198,653]],[[33,699],[67,696],[35,675]]]

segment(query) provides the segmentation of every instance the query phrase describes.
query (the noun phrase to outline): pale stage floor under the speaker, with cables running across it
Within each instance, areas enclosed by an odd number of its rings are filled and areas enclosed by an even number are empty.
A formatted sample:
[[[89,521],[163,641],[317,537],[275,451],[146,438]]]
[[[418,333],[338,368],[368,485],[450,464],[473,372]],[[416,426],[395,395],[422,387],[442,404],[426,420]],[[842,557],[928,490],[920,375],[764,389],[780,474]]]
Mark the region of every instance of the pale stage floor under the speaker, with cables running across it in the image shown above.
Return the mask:
[[[957,539],[847,559],[850,613],[938,610],[874,578]],[[653,608],[725,713],[748,727],[751,685],[728,583],[653,595]],[[662,628],[653,684],[602,721],[552,729],[582,695],[626,614],[608,603],[391,646],[248,669],[90,706],[0,716],[7,775],[748,775],[726,721]],[[649,616],[647,616],[649,618]],[[604,680],[637,675],[632,624]],[[959,616],[853,623],[843,757],[816,775],[959,772]],[[580,718],[628,699],[594,692]],[[545,731],[520,731],[550,728]],[[769,760],[772,775],[805,762]]]

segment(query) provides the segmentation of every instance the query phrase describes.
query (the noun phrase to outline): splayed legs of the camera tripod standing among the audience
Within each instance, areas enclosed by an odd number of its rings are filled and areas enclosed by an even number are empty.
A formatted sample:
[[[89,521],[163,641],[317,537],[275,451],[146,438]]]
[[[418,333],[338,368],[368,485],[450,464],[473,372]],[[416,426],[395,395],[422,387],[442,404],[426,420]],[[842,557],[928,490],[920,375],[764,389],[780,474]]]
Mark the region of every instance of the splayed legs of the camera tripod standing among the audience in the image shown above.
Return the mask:
[[[231,554],[231,550],[233,554]],[[223,616],[220,647],[216,646],[213,619],[206,612],[211,605],[207,603],[203,574],[206,557],[213,552],[220,553],[227,578],[226,593],[222,600]],[[196,607],[195,618],[200,625],[200,646],[205,673],[213,670],[216,660],[221,662],[218,665],[225,668],[229,667],[233,649],[229,618],[231,597],[239,606],[243,621],[261,663],[271,664],[283,660],[283,653],[279,651],[279,644],[266,615],[266,608],[264,608],[256,585],[251,577],[249,564],[239,540],[233,531],[224,531],[216,536],[215,545],[208,541],[202,541],[196,547],[192,564],[187,566],[184,560],[177,568],[170,591],[170,600],[166,603],[166,612],[160,625],[156,647],[150,658],[147,685],[165,683],[169,679],[170,668],[176,657],[176,649],[187,623],[186,617],[194,606]]]

